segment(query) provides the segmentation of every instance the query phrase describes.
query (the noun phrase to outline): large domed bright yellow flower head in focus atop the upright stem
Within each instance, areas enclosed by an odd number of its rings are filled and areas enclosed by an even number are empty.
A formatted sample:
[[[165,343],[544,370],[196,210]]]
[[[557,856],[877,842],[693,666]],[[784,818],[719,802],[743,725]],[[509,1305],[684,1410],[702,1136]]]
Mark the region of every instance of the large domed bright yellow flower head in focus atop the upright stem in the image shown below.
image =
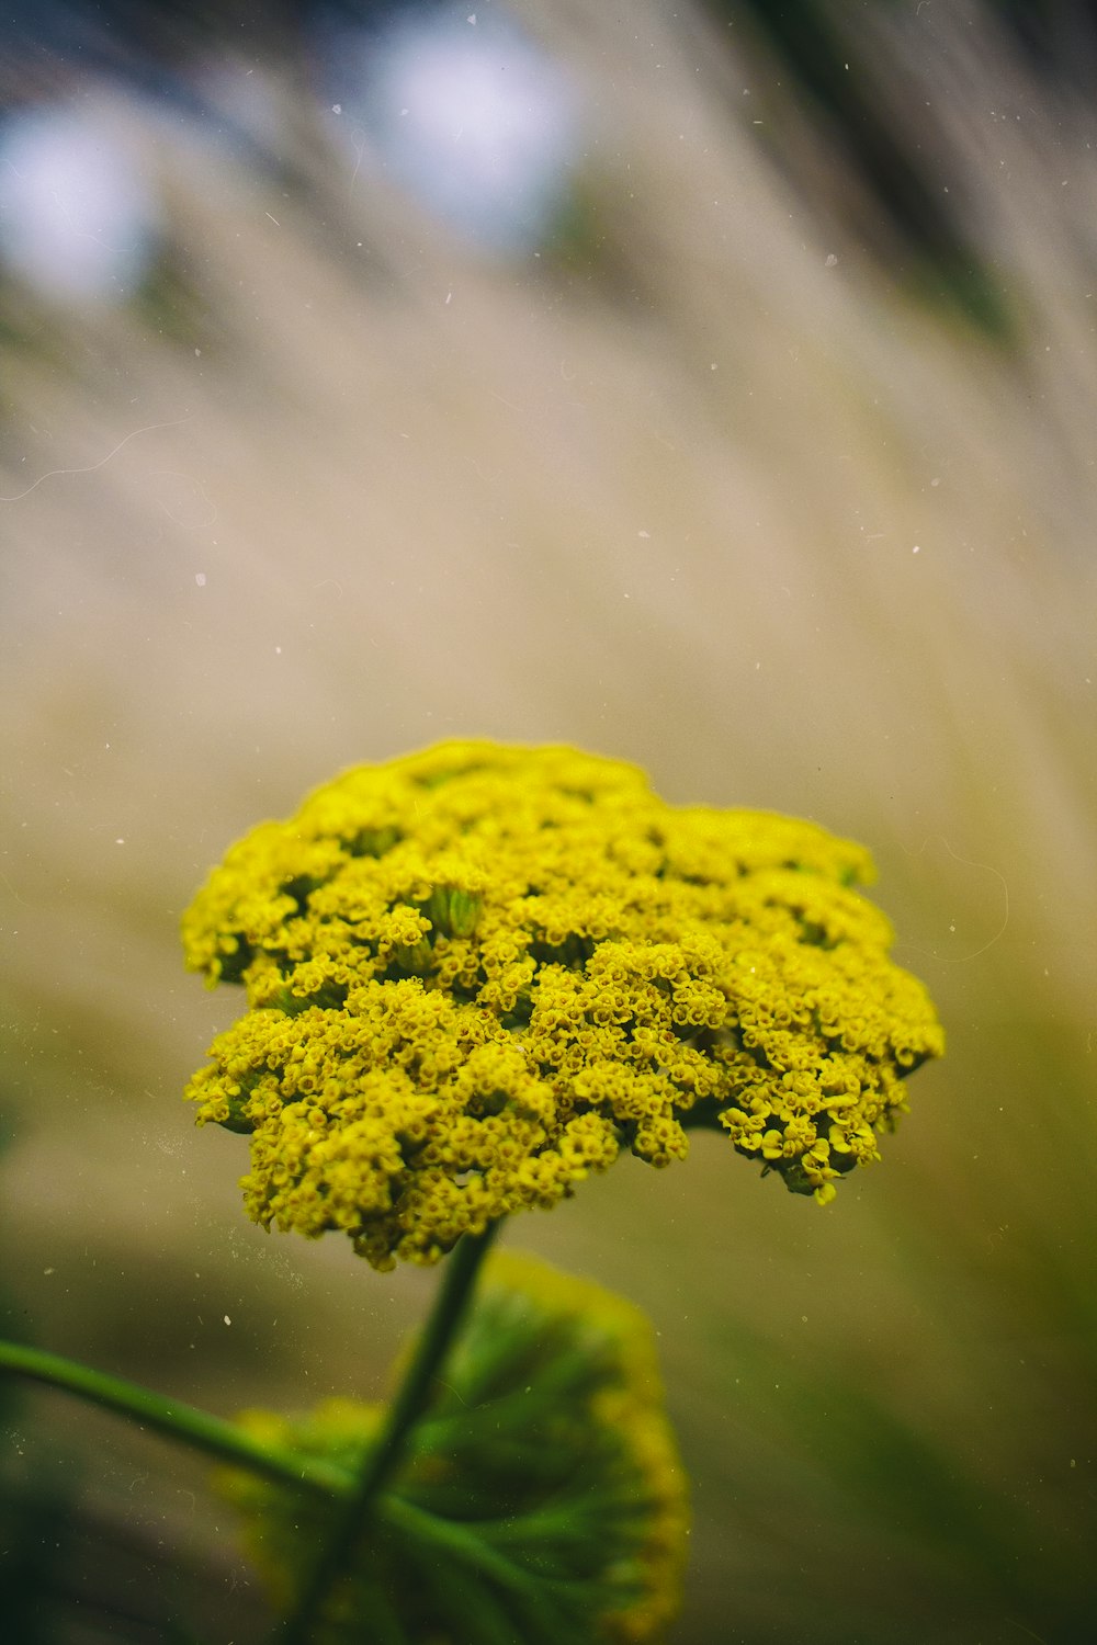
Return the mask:
[[[375,1267],[553,1206],[687,1125],[826,1201],[942,1051],[924,989],[811,822],[676,808],[574,748],[359,767],[235,844],[183,921],[250,1010],[187,1087],[252,1135],[250,1214]]]

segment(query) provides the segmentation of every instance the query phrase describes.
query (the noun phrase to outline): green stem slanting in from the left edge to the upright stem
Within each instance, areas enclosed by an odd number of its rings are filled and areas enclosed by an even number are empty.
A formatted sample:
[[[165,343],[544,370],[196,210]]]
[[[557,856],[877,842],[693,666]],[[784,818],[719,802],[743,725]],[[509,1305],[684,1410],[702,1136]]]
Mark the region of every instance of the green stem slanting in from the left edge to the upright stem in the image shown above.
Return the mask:
[[[168,1400],[138,1382],[127,1382],[125,1377],[110,1377],[104,1370],[92,1370],[90,1365],[79,1365],[62,1354],[48,1354],[23,1342],[0,1342],[0,1370],[44,1382],[51,1388],[64,1388],[66,1393],[76,1393],[107,1411],[130,1416],[168,1439],[194,1446],[207,1456],[247,1467],[253,1474],[263,1474],[280,1485],[289,1484],[312,1495],[345,1499],[355,1484],[345,1467],[263,1444],[235,1423],[209,1416],[181,1400]]]

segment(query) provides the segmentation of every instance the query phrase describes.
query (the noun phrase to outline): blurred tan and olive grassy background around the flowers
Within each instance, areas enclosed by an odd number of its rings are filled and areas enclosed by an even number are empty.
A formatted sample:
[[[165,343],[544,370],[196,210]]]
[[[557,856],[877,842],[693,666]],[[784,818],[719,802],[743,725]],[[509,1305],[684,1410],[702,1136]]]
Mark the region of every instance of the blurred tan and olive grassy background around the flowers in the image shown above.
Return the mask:
[[[676,1645],[1094,1637],[1095,87],[1085,0],[10,0],[8,1336],[380,1393],[436,1275],[245,1222],[178,918],[574,742],[870,844],[949,1031],[829,1211],[699,1135],[507,1234],[660,1331]],[[0,1397],[13,1640],[262,1637],[201,1461]]]

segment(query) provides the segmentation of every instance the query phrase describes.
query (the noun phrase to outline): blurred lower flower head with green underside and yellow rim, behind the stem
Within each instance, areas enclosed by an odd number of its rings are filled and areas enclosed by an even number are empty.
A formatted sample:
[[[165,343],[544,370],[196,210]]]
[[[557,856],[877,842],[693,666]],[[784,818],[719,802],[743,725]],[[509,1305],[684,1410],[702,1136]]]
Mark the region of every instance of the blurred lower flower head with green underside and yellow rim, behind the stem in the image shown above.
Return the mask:
[[[299,1416],[253,1410],[238,1421],[263,1444],[354,1477],[383,1410],[332,1398]],[[321,1512],[252,1472],[225,1469],[219,1487],[243,1513],[247,1551],[276,1606],[289,1609],[324,1535]],[[447,1535],[454,1522],[457,1538]],[[687,1533],[686,1477],[648,1319],[600,1285],[497,1253],[416,1448],[332,1591],[317,1638],[362,1638],[363,1620],[378,1625],[380,1596],[400,1638],[498,1638],[498,1629],[477,1630],[479,1614],[462,1615],[484,1604],[502,1607],[507,1637],[525,1638],[521,1606],[533,1597],[538,1638],[548,1637],[546,1607],[556,1607],[561,1640],[653,1645],[679,1609]],[[464,1581],[447,1582],[444,1568],[442,1581],[424,1581],[424,1569],[454,1556]],[[469,1594],[474,1573],[487,1594]]]

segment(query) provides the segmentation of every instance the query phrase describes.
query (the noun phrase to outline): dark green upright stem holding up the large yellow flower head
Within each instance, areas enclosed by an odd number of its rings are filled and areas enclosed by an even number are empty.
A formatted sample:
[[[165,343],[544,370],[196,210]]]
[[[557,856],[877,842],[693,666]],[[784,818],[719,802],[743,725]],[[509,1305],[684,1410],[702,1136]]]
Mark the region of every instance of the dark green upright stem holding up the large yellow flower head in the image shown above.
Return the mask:
[[[429,1403],[434,1377],[472,1301],[480,1263],[497,1232],[498,1222],[492,1222],[484,1234],[465,1234],[454,1245],[431,1316],[416,1344],[405,1380],[388,1406],[380,1439],[362,1464],[354,1494],[342,1504],[336,1525],[301,1589],[298,1604],[278,1633],[278,1645],[308,1645],[329,1587],[347,1564],[378,1492],[400,1466],[411,1430]]]

